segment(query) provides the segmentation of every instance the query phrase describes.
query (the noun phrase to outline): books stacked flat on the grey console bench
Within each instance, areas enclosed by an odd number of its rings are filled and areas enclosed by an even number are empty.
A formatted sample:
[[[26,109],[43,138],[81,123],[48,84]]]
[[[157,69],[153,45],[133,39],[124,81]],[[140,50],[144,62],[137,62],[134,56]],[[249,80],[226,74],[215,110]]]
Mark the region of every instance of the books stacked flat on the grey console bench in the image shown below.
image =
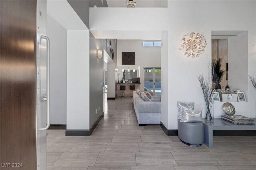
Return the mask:
[[[255,125],[255,119],[242,115],[221,115],[221,119],[234,123],[235,125]]]

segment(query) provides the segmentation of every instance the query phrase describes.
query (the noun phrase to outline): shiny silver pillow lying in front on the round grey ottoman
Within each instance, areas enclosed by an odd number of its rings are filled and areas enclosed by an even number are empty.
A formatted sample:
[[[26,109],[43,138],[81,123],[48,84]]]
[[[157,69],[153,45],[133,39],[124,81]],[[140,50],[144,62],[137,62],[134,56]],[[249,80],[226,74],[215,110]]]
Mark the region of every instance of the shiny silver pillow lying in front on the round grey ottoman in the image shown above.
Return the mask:
[[[186,122],[201,122],[202,110],[184,110],[182,109],[180,123]]]

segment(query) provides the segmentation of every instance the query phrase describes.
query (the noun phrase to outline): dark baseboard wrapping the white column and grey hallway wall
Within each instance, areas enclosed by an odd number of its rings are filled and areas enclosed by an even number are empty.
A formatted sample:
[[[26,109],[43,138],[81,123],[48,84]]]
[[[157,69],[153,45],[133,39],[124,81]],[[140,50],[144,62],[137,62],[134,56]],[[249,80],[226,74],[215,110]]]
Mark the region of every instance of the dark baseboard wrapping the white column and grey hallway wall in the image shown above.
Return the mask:
[[[102,113],[102,115],[100,115],[97,121],[92,125],[90,130],[66,130],[66,136],[90,136],[94,131],[95,127],[98,125],[98,123],[103,117],[104,117],[104,112]]]

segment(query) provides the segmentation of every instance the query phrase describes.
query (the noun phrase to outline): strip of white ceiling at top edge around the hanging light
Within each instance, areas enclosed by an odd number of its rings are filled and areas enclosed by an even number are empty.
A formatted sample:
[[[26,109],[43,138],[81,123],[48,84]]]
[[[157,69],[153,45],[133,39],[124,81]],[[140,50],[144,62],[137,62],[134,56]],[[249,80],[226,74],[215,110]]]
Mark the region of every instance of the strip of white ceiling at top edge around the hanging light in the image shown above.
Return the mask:
[[[134,0],[137,8],[167,7],[167,0]],[[107,0],[108,7],[126,8],[126,0]]]

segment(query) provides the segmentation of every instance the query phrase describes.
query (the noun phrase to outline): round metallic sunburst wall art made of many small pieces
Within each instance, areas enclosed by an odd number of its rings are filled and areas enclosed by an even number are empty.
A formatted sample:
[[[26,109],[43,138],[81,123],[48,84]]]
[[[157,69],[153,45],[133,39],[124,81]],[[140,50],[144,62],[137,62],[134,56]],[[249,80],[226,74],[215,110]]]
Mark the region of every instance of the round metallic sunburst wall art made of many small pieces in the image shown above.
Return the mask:
[[[185,50],[184,55],[187,57],[192,56],[193,58],[202,54],[207,45],[204,35],[194,32],[184,35],[181,42],[182,45],[179,50]]]

